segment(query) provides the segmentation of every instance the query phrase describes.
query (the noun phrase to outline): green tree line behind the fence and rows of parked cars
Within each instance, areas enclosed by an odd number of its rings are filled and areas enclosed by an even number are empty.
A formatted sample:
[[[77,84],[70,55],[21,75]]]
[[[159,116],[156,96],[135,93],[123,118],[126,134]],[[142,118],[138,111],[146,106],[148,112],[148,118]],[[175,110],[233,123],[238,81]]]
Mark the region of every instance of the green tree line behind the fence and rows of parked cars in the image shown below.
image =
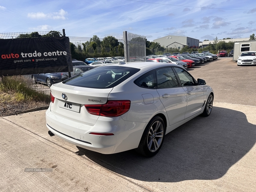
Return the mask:
[[[20,34],[17,38],[41,38],[41,37],[61,37],[61,33],[58,31],[50,31],[45,35],[40,35],[38,32],[32,32],[30,34]],[[224,38],[231,39],[231,38]],[[255,34],[250,35],[249,40],[256,40]],[[201,48],[192,48],[185,46],[182,49],[173,49],[173,48],[165,48],[161,46],[157,42],[151,42],[145,39],[146,43],[146,55],[154,54],[154,55],[162,55],[165,52],[192,52],[198,51],[202,52],[208,50],[212,53],[217,53],[218,50],[227,50],[228,52],[233,49],[234,42],[229,41],[221,41],[218,37],[213,39],[213,43],[209,43],[207,47]],[[204,40],[209,41],[209,40]],[[124,56],[124,44],[119,42],[113,36],[107,36],[102,40],[97,36],[93,35],[89,41],[84,43],[75,45],[70,42],[70,50],[72,58],[75,58],[80,61],[84,61],[85,58],[93,58],[93,57],[110,57],[110,56]]]

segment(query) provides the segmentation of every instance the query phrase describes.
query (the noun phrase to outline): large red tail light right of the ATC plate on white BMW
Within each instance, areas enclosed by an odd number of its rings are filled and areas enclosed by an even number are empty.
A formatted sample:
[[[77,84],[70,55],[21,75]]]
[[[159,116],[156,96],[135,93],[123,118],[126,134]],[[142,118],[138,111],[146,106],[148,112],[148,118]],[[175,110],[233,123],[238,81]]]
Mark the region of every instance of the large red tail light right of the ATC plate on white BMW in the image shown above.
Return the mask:
[[[108,101],[103,105],[84,105],[86,110],[92,115],[98,116],[120,116],[129,111],[131,101],[120,100],[120,101]]]

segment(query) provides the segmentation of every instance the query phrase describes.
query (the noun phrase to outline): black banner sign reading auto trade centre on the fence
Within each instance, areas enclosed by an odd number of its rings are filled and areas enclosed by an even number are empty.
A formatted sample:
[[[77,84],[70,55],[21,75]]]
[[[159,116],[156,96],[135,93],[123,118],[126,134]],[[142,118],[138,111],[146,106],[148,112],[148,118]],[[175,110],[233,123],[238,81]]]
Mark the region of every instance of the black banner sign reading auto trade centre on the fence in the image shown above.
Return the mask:
[[[0,39],[0,76],[73,71],[68,37]]]

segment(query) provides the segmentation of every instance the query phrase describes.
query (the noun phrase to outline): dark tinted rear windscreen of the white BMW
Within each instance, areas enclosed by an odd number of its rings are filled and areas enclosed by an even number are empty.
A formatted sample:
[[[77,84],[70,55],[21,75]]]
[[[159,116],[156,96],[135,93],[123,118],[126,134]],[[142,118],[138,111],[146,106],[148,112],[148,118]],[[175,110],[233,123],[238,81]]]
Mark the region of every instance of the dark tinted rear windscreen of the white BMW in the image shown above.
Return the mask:
[[[138,71],[140,69],[132,67],[102,66],[80,73],[62,83],[77,87],[112,88]]]

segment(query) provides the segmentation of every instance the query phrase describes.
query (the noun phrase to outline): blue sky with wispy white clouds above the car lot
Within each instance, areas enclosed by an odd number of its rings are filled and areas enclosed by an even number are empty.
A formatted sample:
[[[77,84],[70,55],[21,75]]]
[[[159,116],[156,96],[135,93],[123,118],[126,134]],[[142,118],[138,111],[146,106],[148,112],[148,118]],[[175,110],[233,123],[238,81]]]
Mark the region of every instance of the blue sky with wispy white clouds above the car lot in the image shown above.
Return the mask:
[[[167,35],[204,41],[256,34],[255,0],[0,0],[0,33],[61,31],[66,36],[148,41]]]

